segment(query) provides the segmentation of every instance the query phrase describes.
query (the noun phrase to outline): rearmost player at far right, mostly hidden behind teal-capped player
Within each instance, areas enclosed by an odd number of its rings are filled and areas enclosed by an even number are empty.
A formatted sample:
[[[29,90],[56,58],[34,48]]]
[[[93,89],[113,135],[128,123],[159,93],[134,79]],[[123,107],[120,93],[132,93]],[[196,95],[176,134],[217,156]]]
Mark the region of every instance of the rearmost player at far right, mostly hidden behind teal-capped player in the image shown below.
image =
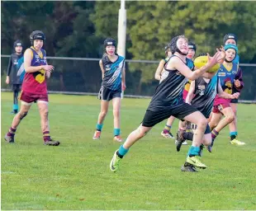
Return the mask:
[[[227,34],[223,38],[223,43],[224,45],[237,45],[237,36],[235,34]],[[235,59],[233,60],[234,63],[238,64],[238,70],[235,75],[235,83],[237,83],[237,87],[233,87],[233,92],[241,91],[244,87],[244,82],[243,82],[243,73],[242,69],[239,68],[239,55],[236,54]],[[234,111],[235,114],[235,120],[232,121],[229,124],[230,127],[230,140],[232,141],[233,139],[237,139],[237,104],[238,104],[238,99],[232,99],[230,101],[230,106],[232,110]]]

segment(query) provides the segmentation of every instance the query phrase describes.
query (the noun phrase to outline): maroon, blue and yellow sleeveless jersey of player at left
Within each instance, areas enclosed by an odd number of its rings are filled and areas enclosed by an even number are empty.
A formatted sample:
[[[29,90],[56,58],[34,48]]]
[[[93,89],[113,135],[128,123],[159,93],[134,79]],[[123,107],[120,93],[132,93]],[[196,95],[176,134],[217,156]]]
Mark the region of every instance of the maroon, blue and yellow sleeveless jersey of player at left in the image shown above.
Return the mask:
[[[40,65],[46,65],[46,53],[44,49],[40,49],[42,52],[42,57],[36,53],[36,50],[31,47],[32,60],[31,66],[36,67]],[[45,82],[45,70],[41,69],[40,71],[34,73],[26,73],[23,83],[22,91],[30,92],[33,94],[45,94],[47,93],[47,86]]]

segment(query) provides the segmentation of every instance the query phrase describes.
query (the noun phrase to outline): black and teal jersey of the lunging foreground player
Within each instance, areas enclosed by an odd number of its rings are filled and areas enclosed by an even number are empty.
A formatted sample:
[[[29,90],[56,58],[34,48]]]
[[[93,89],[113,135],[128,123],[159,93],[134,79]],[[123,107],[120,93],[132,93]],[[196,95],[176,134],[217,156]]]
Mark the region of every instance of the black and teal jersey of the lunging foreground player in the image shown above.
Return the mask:
[[[172,55],[169,59],[173,56],[175,55]],[[194,63],[191,59],[186,59],[186,65],[191,70],[194,68]],[[148,110],[168,109],[170,106],[178,105],[183,101],[183,88],[187,78],[182,73],[179,73],[177,69],[169,70],[164,68],[164,70],[164,79],[156,87]]]

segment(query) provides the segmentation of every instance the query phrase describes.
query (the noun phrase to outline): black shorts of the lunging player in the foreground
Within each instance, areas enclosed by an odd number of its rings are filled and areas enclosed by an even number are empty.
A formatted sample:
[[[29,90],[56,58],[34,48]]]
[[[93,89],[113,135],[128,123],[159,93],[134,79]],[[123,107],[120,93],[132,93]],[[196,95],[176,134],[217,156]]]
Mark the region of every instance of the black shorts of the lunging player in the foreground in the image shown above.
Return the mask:
[[[168,119],[171,115],[183,120],[185,116],[191,115],[192,113],[198,111],[195,107],[181,102],[178,105],[170,106],[168,109],[163,108],[163,110],[153,111],[148,108],[146,110],[144,119],[142,120],[142,126],[153,127],[155,124]]]

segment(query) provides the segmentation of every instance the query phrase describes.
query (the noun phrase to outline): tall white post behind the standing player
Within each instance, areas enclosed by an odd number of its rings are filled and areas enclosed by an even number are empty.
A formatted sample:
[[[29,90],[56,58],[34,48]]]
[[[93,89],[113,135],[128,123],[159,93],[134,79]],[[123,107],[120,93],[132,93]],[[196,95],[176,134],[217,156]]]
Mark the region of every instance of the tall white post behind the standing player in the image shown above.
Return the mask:
[[[118,13],[118,44],[117,54],[126,58],[126,0],[121,0],[121,7]],[[121,92],[121,98],[124,96],[124,91]]]

